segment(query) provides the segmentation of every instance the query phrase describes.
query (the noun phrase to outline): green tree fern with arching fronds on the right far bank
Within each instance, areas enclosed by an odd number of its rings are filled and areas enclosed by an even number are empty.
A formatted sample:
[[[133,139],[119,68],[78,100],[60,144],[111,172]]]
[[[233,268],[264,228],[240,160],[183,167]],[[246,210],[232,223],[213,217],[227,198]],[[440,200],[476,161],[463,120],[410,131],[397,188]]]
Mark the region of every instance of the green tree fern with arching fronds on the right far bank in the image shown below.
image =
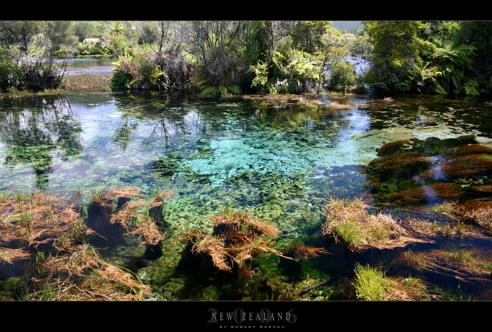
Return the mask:
[[[463,89],[461,83],[465,69],[473,63],[472,56],[476,48],[471,45],[457,45],[453,40],[433,38],[436,50],[432,58],[436,61],[436,67],[441,76],[442,88],[446,93],[451,91],[459,93]]]

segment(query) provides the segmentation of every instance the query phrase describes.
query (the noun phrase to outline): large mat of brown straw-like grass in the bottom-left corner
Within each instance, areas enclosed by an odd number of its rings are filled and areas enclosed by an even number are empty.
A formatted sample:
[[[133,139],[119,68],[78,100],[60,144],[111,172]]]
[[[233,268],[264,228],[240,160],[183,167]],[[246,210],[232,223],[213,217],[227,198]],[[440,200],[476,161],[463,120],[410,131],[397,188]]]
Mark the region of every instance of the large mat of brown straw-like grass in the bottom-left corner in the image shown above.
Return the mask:
[[[93,234],[76,207],[48,193],[2,196],[0,260],[32,257],[26,300],[142,300],[150,287],[83,244]],[[151,231],[150,231],[151,232]],[[51,244],[39,249],[40,244]],[[36,249],[37,248],[37,249]],[[35,271],[35,272],[33,272]]]

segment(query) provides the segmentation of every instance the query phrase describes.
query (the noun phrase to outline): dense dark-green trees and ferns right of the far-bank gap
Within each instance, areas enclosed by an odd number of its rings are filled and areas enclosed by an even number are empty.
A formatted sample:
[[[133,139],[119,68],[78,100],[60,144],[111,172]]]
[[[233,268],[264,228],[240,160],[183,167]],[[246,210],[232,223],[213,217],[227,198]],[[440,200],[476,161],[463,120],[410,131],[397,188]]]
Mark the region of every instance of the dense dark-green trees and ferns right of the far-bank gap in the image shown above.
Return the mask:
[[[370,21],[365,27],[373,44],[366,79],[374,87],[490,94],[490,22]]]

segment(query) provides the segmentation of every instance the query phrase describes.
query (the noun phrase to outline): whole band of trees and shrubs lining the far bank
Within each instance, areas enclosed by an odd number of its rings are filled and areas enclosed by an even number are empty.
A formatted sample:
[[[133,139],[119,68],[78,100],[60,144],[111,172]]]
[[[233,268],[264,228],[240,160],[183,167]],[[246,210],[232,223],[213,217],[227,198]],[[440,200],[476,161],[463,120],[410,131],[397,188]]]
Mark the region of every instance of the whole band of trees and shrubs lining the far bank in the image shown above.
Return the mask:
[[[492,22],[355,23],[0,21],[0,90],[57,88],[71,56],[109,54],[117,57],[113,89],[223,97],[369,83],[390,92],[492,92]],[[369,60],[367,72],[355,72],[351,54]]]

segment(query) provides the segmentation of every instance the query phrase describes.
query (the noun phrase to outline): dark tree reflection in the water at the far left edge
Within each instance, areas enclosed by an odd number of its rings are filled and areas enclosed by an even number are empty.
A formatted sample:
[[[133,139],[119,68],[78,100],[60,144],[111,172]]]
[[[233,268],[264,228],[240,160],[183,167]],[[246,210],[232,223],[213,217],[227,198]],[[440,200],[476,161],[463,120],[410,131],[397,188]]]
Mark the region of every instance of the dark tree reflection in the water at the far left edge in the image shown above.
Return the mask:
[[[41,108],[39,108],[41,105]],[[82,127],[66,98],[24,100],[0,114],[0,138],[7,144],[7,166],[30,164],[36,187],[43,189],[53,172],[53,154],[68,160],[83,151]]]

